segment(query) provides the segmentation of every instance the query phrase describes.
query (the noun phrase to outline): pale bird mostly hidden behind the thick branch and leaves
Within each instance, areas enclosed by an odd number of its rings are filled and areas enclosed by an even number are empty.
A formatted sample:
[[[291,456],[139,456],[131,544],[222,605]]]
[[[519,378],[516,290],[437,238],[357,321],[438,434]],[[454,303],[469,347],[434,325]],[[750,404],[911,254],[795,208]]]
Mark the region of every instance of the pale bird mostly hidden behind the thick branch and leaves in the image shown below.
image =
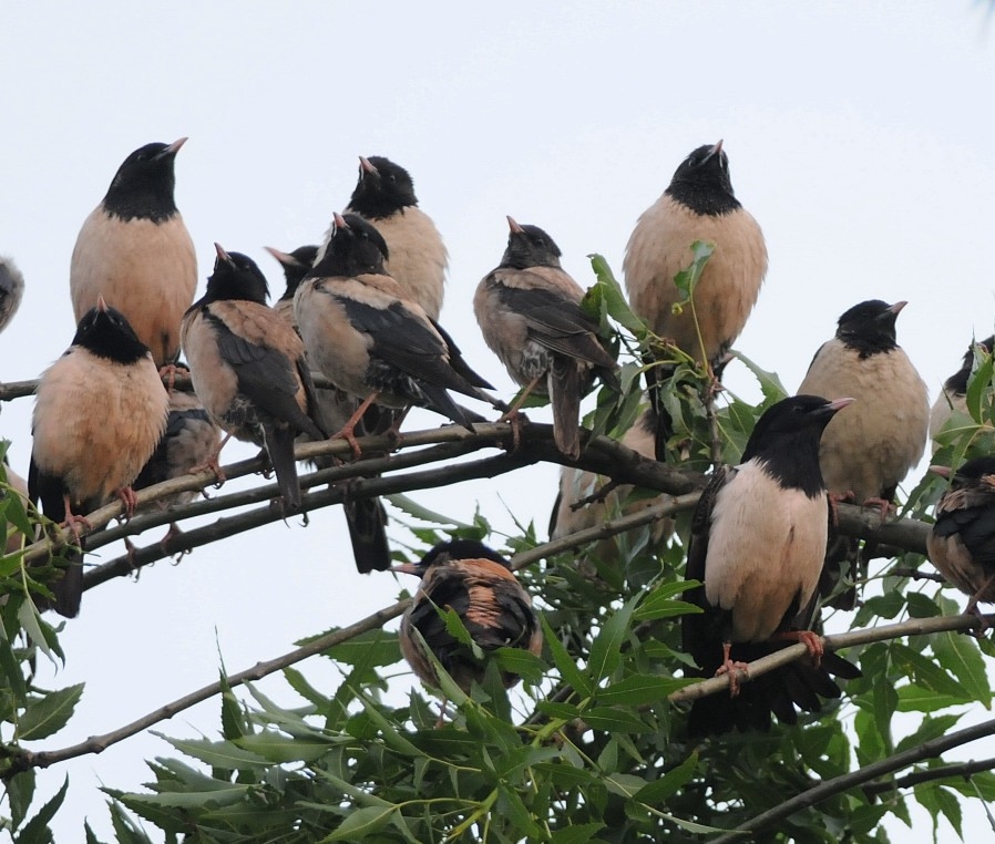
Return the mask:
[[[628,431],[622,436],[622,444],[642,454],[648,460],[654,460],[654,435],[656,431],[656,413],[653,408],[644,410]],[[598,475],[574,466],[561,466],[560,492],[553,505],[550,517],[550,538],[562,539],[591,527],[602,525],[615,513],[623,515],[637,513],[659,504],[665,497],[663,493],[652,498],[629,500],[633,487],[623,484],[614,487],[607,496],[601,497],[598,484],[603,483]],[[583,506],[577,506],[581,501],[591,498],[597,494],[595,501],[589,501]],[[650,542],[658,544],[664,536],[673,529],[671,519],[655,522],[650,528]],[[597,545],[595,552],[598,559],[607,563],[618,560],[618,549],[614,539],[605,539]]]

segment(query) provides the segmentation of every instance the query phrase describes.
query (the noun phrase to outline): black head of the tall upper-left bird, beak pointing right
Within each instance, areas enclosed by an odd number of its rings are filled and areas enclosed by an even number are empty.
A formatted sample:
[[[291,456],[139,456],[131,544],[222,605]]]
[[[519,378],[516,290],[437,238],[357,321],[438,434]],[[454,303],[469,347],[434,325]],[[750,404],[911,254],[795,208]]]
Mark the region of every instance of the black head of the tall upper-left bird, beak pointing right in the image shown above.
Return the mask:
[[[135,150],[114,174],[104,196],[107,214],[129,219],[162,223],[176,214],[173,189],[176,186],[174,164],[185,137],[172,144],[145,144]]]

